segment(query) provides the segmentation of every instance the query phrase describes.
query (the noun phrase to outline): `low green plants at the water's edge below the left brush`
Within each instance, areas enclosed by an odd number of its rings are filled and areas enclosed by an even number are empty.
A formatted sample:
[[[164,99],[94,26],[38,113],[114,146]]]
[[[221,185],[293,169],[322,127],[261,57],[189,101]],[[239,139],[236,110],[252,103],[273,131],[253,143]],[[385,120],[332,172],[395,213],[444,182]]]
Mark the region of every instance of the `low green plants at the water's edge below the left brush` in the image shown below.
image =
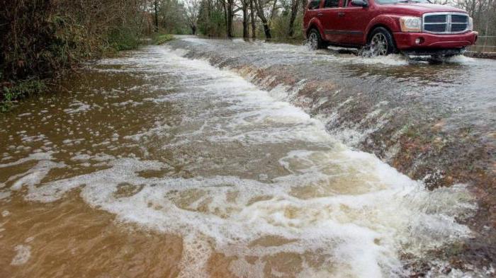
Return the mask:
[[[11,86],[3,86],[0,91],[0,111],[7,112],[16,100],[42,93],[46,88],[45,82],[40,79],[26,79]]]

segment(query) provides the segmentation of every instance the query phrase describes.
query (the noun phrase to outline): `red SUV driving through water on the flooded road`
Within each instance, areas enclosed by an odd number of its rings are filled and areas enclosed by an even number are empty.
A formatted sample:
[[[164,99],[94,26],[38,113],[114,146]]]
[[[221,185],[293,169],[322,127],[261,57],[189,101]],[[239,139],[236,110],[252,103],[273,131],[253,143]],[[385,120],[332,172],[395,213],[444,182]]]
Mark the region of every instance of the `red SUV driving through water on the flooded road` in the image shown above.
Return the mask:
[[[363,47],[371,54],[461,54],[477,40],[466,11],[427,0],[310,0],[303,30],[313,49]]]

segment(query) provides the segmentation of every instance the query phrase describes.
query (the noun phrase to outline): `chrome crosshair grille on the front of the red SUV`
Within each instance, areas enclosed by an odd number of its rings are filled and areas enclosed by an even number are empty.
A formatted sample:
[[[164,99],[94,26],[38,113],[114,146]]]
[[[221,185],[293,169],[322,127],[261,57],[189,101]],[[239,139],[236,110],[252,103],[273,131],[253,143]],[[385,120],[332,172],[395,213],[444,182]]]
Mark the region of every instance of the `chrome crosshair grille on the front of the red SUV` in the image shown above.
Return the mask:
[[[468,29],[466,13],[424,13],[422,30],[433,34],[458,34]]]

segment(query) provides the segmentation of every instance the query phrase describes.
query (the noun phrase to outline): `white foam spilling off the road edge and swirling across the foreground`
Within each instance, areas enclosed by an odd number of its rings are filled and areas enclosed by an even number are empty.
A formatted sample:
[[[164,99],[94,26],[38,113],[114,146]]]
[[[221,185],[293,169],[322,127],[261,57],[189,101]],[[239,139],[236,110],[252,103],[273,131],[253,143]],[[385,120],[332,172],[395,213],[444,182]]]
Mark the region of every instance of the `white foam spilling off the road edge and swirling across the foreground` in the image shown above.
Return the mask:
[[[270,258],[281,254],[302,257],[302,271],[292,273],[299,277],[396,277],[402,275],[402,253],[422,256],[470,236],[470,230],[455,221],[475,209],[463,185],[426,190],[422,182],[410,180],[376,156],[339,143],[322,122],[300,108],[274,99],[230,71],[179,54],[150,47],[135,57],[104,62],[127,64],[125,71],[203,80],[167,95],[187,111],[177,127],[157,120],[150,129],[124,138],[146,145],[149,137],[168,138],[174,129],[179,134],[171,138],[173,144],[191,146],[201,140],[218,144],[226,166],[231,158],[225,148],[232,148],[232,141],[266,146],[267,151],[276,145],[283,153],[274,163],[286,170],[284,174],[264,182],[229,172],[145,178],[142,171],[169,165],[109,156],[102,160],[106,169],[42,185],[40,178],[47,169],[63,165],[40,160],[13,189],[27,184],[26,199],[53,202],[80,188],[87,204],[115,214],[123,224],[182,236],[181,277],[206,275],[213,252],[236,256],[230,270],[239,277],[262,275]],[[191,98],[184,98],[186,92]],[[284,242],[263,243],[271,237]],[[249,262],[250,257],[255,262]],[[271,269],[284,276],[281,271]]]

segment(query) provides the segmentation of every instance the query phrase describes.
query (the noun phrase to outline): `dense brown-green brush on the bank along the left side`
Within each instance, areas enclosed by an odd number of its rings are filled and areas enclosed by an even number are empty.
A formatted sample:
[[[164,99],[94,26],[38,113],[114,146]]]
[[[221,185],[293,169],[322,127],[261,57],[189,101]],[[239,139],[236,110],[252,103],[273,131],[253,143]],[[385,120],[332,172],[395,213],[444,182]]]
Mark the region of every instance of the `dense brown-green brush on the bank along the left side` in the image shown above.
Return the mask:
[[[1,109],[86,59],[137,47],[140,0],[0,0]]]

